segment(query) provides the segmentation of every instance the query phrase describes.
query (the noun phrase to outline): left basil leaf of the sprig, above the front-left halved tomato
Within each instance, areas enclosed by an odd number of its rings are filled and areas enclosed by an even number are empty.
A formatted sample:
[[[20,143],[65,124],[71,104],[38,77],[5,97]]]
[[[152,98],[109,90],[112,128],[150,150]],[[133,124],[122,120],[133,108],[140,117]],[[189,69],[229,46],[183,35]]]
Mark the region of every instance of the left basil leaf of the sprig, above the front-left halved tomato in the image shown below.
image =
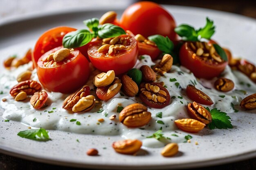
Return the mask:
[[[94,37],[94,33],[91,33],[87,29],[80,29],[67,33],[62,40],[62,44],[65,48],[77,48],[88,44]]]

